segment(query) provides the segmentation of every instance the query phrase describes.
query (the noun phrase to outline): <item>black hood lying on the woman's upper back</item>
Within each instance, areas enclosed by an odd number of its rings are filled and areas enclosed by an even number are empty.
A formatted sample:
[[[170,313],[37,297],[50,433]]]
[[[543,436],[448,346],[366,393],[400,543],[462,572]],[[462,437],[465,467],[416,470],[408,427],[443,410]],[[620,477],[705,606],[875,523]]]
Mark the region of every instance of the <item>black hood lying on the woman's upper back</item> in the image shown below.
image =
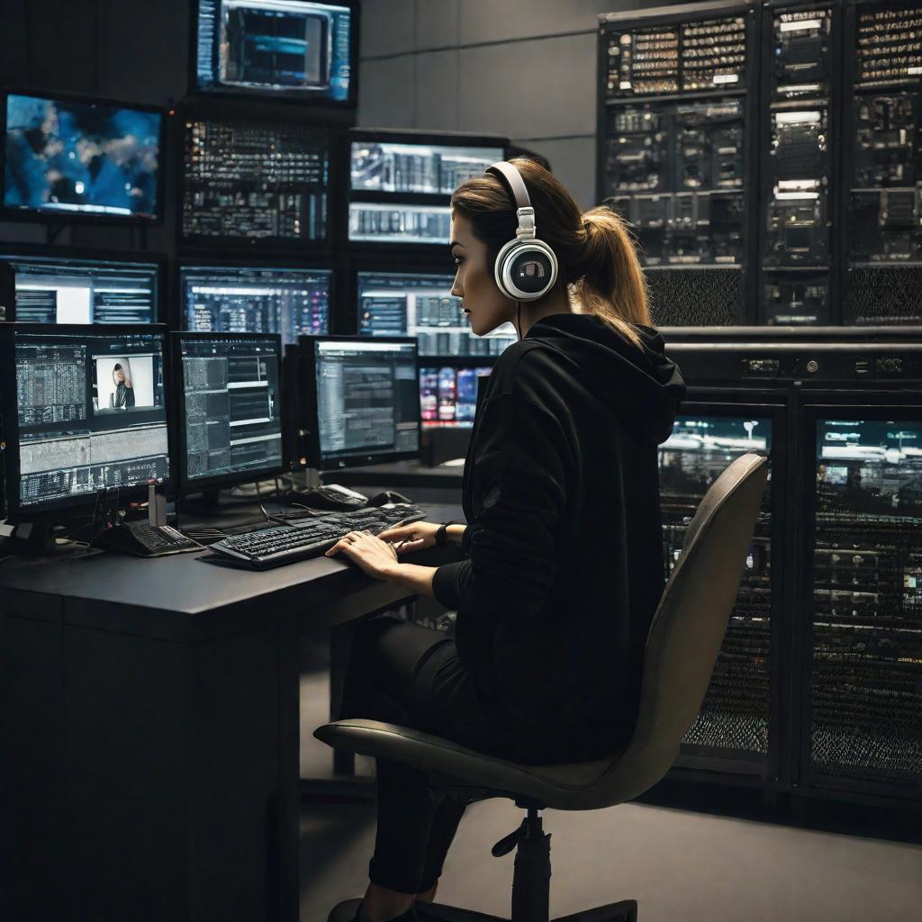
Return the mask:
[[[556,313],[533,324],[526,339],[539,339],[561,352],[573,373],[642,443],[665,442],[685,382],[665,355],[663,337],[652,326],[634,324],[638,349],[605,321],[588,313]]]

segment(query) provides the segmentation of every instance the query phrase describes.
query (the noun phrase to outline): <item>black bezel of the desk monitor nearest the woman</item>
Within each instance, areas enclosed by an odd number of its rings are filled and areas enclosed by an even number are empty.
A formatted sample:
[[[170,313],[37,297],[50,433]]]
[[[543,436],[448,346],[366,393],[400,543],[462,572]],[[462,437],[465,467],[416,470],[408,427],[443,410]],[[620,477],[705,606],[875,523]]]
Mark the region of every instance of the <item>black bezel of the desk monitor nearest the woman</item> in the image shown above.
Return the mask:
[[[316,352],[314,345],[321,342],[344,343],[388,343],[412,346],[416,373],[416,387],[413,390],[416,399],[416,427],[417,449],[413,452],[377,452],[350,457],[325,457],[320,450],[320,423],[317,413],[317,378],[316,378]],[[301,395],[301,431],[305,436],[304,446],[307,451],[307,467],[325,471],[343,470],[346,467],[363,467],[365,465],[389,464],[392,461],[407,461],[419,458],[421,453],[420,439],[422,427],[420,426],[420,357],[417,341],[414,337],[368,337],[357,336],[326,336],[326,337],[298,337],[298,374],[301,379],[299,393]],[[314,463],[315,462],[315,463]]]

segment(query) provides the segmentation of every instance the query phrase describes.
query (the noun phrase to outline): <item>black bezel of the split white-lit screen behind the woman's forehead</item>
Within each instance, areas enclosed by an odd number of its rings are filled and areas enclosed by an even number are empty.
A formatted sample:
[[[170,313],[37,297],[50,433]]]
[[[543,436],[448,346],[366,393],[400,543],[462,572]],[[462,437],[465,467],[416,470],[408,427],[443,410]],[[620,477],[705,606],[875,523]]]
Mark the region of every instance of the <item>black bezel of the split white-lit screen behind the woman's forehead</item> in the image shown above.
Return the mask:
[[[506,160],[510,141],[508,137],[479,135],[467,132],[435,132],[408,128],[350,128],[342,136],[342,145],[338,160],[343,164],[342,214],[339,219],[339,245],[349,253],[365,254],[400,254],[406,258],[413,253],[414,258],[425,260],[436,258],[448,247],[446,242],[373,242],[368,240],[351,240],[349,238],[349,208],[353,202],[395,205],[428,205],[449,207],[450,194],[420,192],[361,192],[352,189],[352,144],[372,141],[380,144],[417,144],[420,146],[438,146],[443,148],[498,148],[502,151],[501,160]]]

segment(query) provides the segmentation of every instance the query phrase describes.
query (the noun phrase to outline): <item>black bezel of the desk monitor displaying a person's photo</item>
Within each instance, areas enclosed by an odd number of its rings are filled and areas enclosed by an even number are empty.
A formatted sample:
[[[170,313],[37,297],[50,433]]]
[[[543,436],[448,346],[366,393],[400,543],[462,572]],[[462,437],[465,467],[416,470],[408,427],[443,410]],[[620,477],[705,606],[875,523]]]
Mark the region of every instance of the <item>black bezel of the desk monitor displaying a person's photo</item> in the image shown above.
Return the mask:
[[[147,497],[148,484],[134,487],[109,487],[105,491],[79,493],[64,499],[51,500],[23,506],[19,502],[19,413],[17,406],[16,381],[16,336],[17,334],[35,334],[38,336],[133,336],[140,333],[160,333],[163,343],[163,409],[167,427],[167,453],[169,457],[168,476],[157,486],[165,492],[175,489],[176,478],[176,439],[174,419],[171,409],[171,354],[170,329],[166,324],[0,324],[0,406],[3,408],[4,451],[3,476],[6,481],[6,513],[10,518],[23,521],[35,521],[53,517],[62,511],[95,506],[101,495],[110,496],[117,490],[120,498],[126,501]],[[16,445],[13,451],[10,445]],[[14,489],[15,488],[15,489]]]

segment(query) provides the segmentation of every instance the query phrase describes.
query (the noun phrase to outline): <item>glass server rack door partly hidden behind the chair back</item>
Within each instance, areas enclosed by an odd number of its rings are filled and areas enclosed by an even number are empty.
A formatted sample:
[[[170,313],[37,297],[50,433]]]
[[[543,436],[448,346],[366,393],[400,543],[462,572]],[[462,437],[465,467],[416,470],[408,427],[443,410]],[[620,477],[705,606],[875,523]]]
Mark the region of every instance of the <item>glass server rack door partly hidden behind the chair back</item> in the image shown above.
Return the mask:
[[[744,402],[746,401],[746,402]],[[749,402],[751,401],[751,402]],[[667,573],[707,488],[739,455],[769,458],[770,474],[736,605],[701,711],[677,767],[776,779],[782,585],[785,573],[784,403],[777,396],[727,399],[727,391],[680,408],[659,447],[660,505]]]

